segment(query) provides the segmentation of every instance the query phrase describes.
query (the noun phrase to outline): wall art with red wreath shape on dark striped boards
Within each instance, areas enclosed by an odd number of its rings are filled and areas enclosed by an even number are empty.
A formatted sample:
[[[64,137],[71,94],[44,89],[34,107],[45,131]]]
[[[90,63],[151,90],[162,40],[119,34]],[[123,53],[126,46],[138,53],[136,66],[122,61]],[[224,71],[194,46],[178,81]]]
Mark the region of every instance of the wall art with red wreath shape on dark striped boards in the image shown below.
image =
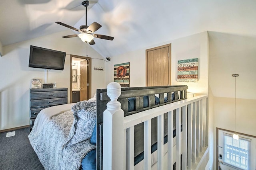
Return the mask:
[[[130,87],[130,63],[114,64],[114,82]]]

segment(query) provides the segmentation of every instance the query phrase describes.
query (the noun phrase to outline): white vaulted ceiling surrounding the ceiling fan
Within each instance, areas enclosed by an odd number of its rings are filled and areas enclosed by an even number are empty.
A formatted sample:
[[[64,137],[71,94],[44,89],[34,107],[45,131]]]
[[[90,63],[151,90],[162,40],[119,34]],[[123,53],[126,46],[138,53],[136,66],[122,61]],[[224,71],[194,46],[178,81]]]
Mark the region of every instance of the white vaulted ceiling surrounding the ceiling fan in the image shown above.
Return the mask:
[[[79,28],[85,24],[83,0],[1,0],[0,42],[19,41]],[[88,25],[102,27],[92,45],[102,56],[115,56],[202,31],[256,36],[255,0],[90,0]],[[74,34],[78,33],[74,31]],[[80,41],[78,37],[76,37]]]

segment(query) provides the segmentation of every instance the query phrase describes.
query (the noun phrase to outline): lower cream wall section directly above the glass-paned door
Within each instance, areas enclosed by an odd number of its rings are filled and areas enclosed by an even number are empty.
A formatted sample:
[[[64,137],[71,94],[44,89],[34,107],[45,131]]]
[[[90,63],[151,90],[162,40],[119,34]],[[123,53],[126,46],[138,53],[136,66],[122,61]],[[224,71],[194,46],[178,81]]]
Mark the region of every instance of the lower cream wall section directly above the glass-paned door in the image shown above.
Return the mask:
[[[256,136],[256,100],[214,97],[215,127]],[[236,108],[236,110],[235,110]]]

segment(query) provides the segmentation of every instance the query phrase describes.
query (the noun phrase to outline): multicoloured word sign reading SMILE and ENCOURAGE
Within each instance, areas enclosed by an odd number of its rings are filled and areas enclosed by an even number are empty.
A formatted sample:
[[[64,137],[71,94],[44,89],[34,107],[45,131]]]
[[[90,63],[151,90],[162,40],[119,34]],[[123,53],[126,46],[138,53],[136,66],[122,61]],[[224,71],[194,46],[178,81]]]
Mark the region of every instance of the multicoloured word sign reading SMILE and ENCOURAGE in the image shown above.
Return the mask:
[[[198,58],[178,61],[178,82],[196,83],[198,78]]]

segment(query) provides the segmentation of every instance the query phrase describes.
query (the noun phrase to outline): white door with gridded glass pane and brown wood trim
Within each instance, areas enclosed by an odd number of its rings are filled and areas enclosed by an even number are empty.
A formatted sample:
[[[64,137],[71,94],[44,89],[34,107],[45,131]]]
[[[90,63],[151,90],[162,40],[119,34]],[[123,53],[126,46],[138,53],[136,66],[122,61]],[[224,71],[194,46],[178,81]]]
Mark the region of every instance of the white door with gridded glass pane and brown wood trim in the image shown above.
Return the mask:
[[[237,132],[238,133],[238,132]],[[256,136],[216,128],[216,170],[256,169]]]

